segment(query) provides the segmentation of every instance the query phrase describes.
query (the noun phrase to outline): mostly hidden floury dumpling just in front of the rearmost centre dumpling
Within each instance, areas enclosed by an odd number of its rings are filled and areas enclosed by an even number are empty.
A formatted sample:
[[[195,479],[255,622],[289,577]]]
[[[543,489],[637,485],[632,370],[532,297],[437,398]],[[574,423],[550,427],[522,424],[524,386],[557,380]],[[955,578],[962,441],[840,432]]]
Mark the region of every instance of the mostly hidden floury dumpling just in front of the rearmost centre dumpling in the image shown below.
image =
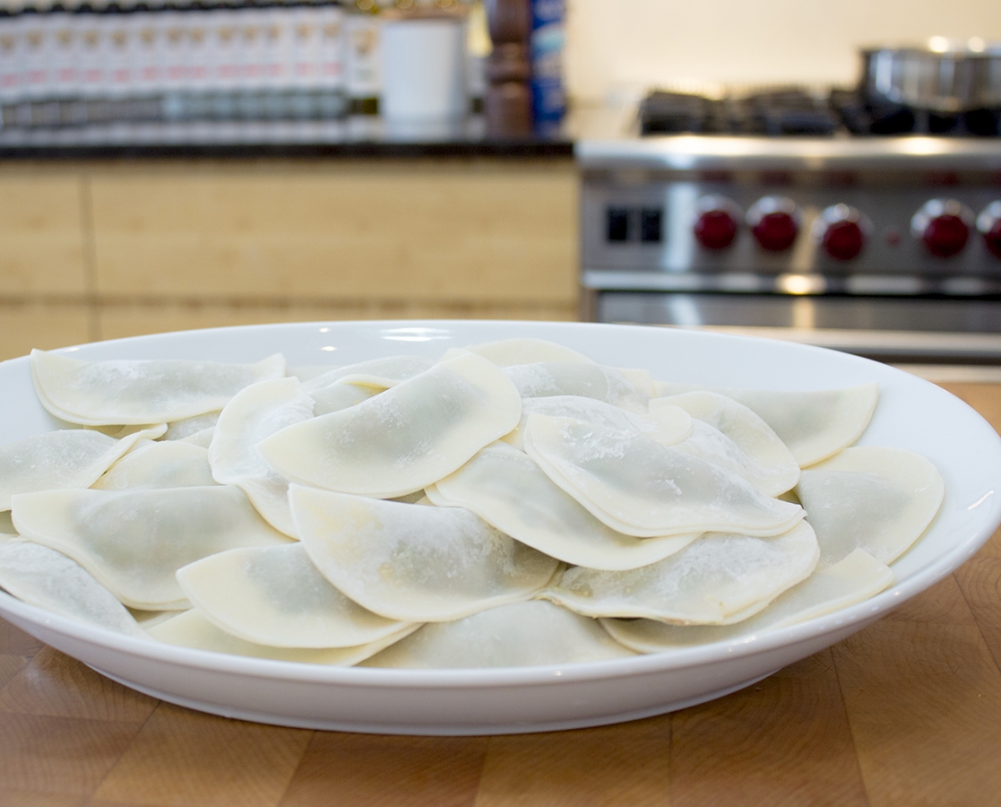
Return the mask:
[[[581,395],[646,414],[654,393],[646,370],[623,370],[594,362],[537,361],[505,367],[522,397]]]

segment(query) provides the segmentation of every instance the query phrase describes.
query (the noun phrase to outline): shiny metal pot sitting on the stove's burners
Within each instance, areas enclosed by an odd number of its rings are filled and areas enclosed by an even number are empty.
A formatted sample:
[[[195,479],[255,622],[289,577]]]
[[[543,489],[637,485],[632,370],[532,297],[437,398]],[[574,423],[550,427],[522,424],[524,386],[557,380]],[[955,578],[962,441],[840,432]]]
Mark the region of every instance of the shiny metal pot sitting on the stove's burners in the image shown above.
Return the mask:
[[[1001,44],[933,37],[926,47],[862,51],[862,91],[872,102],[956,114],[1001,108]]]

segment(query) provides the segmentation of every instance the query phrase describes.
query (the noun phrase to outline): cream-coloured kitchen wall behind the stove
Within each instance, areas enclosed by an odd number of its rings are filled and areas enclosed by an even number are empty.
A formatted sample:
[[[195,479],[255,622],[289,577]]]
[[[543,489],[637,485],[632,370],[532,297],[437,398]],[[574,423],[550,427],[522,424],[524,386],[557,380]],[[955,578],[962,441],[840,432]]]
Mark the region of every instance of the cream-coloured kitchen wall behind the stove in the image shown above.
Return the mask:
[[[1001,41],[998,0],[568,0],[579,100],[676,82],[853,83],[856,48],[930,36]]]

